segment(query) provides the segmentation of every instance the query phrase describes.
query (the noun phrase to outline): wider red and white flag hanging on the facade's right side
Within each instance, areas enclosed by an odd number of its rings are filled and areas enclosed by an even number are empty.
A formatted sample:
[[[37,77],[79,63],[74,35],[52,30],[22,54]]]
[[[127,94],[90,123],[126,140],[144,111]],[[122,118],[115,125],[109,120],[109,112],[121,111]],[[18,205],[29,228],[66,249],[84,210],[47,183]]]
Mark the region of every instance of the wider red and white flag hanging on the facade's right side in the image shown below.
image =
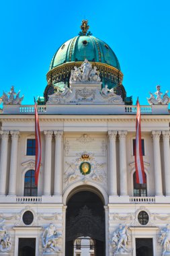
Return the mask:
[[[140,104],[137,99],[137,113],[136,113],[136,146],[134,150],[135,168],[136,168],[136,183],[146,183],[146,176],[144,173],[144,164],[142,156],[142,141],[141,141],[141,127],[140,127]]]

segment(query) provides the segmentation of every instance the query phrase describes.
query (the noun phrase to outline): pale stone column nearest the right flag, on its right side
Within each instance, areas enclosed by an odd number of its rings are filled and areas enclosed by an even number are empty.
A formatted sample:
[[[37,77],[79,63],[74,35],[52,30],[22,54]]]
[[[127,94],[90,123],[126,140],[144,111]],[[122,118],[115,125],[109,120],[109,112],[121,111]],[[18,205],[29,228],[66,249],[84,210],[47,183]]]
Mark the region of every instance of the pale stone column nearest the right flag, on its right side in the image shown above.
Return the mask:
[[[153,158],[155,168],[155,195],[163,195],[162,175],[161,175],[161,154],[159,139],[161,131],[153,131]]]

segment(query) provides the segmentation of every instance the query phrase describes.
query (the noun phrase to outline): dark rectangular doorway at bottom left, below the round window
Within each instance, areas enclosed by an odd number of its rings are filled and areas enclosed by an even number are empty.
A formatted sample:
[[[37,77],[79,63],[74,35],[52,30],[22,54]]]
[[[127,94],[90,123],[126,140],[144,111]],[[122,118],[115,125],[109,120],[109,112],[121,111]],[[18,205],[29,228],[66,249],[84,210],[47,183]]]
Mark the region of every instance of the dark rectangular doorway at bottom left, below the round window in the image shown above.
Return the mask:
[[[19,238],[18,256],[35,256],[36,238]]]

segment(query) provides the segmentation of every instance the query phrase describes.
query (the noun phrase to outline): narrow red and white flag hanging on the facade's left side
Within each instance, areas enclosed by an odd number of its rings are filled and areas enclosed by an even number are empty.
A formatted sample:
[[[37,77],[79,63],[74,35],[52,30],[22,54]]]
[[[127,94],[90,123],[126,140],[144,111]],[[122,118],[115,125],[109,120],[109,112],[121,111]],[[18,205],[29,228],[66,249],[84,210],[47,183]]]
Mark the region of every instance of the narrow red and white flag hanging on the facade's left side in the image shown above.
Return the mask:
[[[38,121],[38,112],[35,101],[35,136],[36,136],[36,163],[35,163],[35,185],[38,186],[38,175],[40,171],[41,163],[41,137],[40,137],[40,126]]]

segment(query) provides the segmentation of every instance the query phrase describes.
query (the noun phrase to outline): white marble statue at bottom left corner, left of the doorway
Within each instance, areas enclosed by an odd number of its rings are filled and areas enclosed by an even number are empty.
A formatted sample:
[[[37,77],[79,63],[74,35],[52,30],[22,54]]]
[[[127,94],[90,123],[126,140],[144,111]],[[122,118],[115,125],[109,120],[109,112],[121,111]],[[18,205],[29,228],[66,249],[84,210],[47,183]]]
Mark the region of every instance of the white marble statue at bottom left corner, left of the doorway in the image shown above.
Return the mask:
[[[2,220],[0,224],[3,224],[3,222],[5,222],[5,220]],[[11,250],[11,246],[11,236],[3,224],[0,226],[0,252],[7,253]]]

